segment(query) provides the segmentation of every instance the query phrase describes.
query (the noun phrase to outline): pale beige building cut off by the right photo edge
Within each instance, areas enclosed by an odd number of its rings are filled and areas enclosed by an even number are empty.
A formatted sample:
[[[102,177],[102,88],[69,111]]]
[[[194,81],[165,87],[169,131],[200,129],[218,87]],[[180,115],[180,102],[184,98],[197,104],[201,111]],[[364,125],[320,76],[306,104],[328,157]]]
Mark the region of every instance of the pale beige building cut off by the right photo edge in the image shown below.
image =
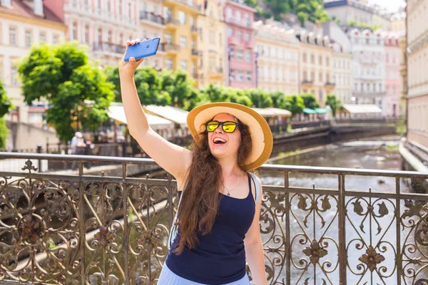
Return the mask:
[[[428,147],[428,0],[407,0],[407,139]]]

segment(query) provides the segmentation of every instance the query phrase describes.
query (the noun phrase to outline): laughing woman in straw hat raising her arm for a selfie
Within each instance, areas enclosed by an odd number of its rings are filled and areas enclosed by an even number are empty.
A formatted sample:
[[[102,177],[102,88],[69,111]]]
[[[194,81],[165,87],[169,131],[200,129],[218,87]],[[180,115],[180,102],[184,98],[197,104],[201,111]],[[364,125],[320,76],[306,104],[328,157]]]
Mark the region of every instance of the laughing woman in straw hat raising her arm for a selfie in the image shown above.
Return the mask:
[[[128,41],[126,46],[138,43]],[[200,105],[188,114],[192,150],[173,145],[154,132],[138,99],[133,74],[143,60],[119,66],[123,108],[129,132],[143,150],[177,180],[183,195],[178,235],[158,285],[267,284],[260,237],[261,199],[248,170],[272,151],[272,133],[254,110],[233,103]],[[260,197],[262,192],[260,191]],[[259,198],[260,198],[259,197]]]

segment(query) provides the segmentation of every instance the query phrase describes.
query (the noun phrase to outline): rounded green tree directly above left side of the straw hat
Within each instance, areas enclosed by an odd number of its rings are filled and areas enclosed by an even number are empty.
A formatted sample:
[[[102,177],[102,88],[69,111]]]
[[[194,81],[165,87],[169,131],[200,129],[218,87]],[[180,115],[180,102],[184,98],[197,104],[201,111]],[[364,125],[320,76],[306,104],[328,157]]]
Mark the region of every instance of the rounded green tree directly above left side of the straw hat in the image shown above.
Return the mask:
[[[171,105],[184,110],[195,108],[201,99],[195,81],[183,71],[162,71],[161,89],[170,95]]]

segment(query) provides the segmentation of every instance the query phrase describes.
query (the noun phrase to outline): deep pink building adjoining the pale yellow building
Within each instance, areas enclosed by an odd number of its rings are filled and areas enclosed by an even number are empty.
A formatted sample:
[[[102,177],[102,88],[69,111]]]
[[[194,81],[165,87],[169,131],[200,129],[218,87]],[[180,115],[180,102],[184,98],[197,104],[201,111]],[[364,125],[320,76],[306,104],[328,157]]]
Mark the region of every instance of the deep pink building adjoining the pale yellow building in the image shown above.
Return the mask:
[[[226,35],[226,86],[235,88],[257,87],[255,74],[255,33],[253,28],[255,9],[243,1],[225,2]]]

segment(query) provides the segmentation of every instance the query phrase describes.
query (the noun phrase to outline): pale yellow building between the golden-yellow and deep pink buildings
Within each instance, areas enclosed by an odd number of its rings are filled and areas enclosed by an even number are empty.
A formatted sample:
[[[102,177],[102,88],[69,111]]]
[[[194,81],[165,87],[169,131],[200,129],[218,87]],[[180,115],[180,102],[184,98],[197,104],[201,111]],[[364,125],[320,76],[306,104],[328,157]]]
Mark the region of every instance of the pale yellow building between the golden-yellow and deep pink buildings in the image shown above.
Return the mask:
[[[224,1],[208,0],[203,14],[198,17],[198,27],[203,27],[198,36],[200,58],[198,64],[198,86],[223,85],[225,78],[225,24]]]

